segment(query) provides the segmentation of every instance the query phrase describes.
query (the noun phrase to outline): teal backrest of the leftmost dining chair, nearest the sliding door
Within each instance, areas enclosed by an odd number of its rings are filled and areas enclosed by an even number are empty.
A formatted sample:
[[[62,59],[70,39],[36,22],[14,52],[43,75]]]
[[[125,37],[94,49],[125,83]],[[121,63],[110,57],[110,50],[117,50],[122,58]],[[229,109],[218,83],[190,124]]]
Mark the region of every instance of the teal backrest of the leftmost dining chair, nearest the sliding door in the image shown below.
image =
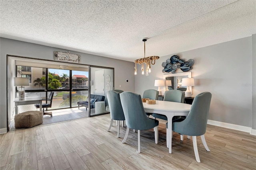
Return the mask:
[[[107,92],[107,99],[111,119],[125,120],[124,111],[120,100],[120,93],[114,90],[110,90]]]

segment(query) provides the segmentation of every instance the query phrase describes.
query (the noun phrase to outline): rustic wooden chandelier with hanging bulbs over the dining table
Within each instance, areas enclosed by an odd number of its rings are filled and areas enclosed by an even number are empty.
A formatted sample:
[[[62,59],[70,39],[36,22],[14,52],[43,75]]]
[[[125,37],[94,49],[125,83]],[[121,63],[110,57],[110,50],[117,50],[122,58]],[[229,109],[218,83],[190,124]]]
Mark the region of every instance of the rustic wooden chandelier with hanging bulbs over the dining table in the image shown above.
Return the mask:
[[[156,60],[159,59],[159,56],[150,56],[150,57],[145,57],[145,42],[147,39],[142,39],[144,41],[144,58],[142,59],[137,59],[134,61],[135,63],[135,70],[134,70],[134,75],[137,75],[137,63],[142,64],[141,65],[141,74],[144,75],[144,63],[146,64],[146,76],[148,76],[148,73],[151,72],[151,67],[150,64],[154,65],[156,63]],[[154,61],[154,63],[153,63]]]

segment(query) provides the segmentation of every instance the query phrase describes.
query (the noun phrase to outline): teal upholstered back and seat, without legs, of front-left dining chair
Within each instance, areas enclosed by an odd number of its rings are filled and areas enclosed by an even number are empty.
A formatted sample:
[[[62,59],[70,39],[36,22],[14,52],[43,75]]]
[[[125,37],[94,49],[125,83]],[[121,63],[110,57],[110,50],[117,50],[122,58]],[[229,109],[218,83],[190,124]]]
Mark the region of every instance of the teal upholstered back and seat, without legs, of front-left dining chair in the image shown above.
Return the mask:
[[[120,100],[127,127],[136,130],[147,130],[154,127],[152,124],[154,125],[155,121],[147,117],[139,94],[122,92]]]

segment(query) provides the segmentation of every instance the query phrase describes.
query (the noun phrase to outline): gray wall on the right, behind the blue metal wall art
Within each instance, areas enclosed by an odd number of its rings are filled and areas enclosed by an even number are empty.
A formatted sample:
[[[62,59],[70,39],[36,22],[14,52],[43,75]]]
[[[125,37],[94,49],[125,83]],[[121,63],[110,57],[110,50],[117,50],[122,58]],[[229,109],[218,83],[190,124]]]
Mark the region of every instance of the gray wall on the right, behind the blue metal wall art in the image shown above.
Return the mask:
[[[255,35],[253,38],[255,65]],[[135,76],[136,93],[142,95],[145,89],[158,89],[154,87],[154,80],[163,79],[163,74],[169,74],[162,73],[161,64],[172,55],[178,55],[186,61],[194,59],[194,69],[191,72],[195,86],[192,88],[192,96],[205,91],[212,93],[208,119],[246,127],[252,127],[254,124],[255,129],[256,109],[255,102],[252,105],[252,88],[255,101],[256,86],[252,86],[252,77],[255,79],[256,71],[255,68],[252,71],[252,36],[160,57],[156,64],[151,66],[152,73],[148,77],[141,75],[140,66],[137,65],[139,71]],[[178,69],[178,72],[182,71]]]

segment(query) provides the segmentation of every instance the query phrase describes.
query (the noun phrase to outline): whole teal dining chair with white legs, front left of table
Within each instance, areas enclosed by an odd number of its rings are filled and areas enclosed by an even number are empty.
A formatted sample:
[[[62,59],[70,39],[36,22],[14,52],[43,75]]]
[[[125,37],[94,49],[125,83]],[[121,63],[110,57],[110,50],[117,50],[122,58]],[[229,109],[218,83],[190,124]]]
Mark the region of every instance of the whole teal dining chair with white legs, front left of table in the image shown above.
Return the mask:
[[[147,117],[141,96],[133,92],[122,92],[120,100],[126,120],[126,133],[122,143],[125,143],[130,129],[138,130],[138,152],[140,153],[140,131],[154,128],[155,143],[158,144],[159,121]]]

